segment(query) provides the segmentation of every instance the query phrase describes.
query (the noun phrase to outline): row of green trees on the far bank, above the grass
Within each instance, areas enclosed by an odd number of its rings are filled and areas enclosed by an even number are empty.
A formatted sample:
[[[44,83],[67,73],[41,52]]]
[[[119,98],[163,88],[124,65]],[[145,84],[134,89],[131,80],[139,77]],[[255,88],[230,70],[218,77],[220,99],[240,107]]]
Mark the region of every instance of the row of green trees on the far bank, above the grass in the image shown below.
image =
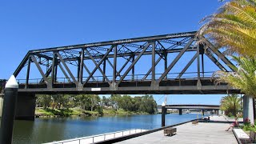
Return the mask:
[[[80,107],[83,110],[98,110],[99,113],[102,113],[102,109],[122,109],[154,114],[157,103],[152,95],[131,97],[130,95],[112,94],[110,97],[102,96],[100,98],[98,94],[38,94],[36,106],[45,110]]]

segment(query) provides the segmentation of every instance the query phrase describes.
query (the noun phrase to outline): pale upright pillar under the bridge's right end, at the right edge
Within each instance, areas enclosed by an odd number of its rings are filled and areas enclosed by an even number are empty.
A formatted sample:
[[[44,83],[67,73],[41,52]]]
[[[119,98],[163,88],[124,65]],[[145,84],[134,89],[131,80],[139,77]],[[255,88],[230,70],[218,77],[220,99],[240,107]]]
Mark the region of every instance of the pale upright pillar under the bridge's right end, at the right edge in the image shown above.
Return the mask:
[[[246,118],[250,119],[250,123],[254,124],[254,106],[253,106],[253,98],[244,95],[242,97],[243,100],[243,122],[246,121]]]

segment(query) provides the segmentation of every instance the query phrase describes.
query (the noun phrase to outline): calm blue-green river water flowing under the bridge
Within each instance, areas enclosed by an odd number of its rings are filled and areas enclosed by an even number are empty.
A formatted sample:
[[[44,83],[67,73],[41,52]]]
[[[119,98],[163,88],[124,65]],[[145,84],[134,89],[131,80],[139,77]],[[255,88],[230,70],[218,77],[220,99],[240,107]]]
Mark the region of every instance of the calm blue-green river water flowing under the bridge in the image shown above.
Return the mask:
[[[201,118],[201,114],[166,114],[166,125]],[[150,129],[161,126],[161,114],[115,115],[103,117],[36,118],[14,122],[14,144],[53,142],[133,128]]]

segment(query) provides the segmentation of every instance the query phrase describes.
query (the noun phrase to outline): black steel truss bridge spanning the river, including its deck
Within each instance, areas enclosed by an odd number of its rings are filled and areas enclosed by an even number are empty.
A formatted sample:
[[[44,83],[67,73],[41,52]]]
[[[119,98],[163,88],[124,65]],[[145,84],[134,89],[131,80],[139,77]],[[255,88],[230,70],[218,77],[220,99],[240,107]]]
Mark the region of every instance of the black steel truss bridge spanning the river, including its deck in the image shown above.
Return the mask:
[[[234,64],[196,31],[30,50],[14,72],[19,93],[238,94],[214,84],[213,72]],[[195,65],[194,65],[195,63]],[[194,69],[193,72],[187,72]],[[39,78],[32,78],[33,74]]]

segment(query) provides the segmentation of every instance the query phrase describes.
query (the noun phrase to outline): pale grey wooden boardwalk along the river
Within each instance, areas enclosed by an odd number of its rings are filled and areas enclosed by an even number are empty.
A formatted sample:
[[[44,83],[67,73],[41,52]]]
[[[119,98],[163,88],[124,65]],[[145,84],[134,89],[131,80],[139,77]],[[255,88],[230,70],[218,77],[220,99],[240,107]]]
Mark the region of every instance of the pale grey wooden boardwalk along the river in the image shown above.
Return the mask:
[[[217,119],[223,120],[224,118]],[[232,130],[225,131],[229,126],[230,124],[228,123],[199,122],[198,125],[192,125],[192,123],[189,122],[180,126],[175,126],[177,127],[177,134],[172,137],[164,136],[163,130],[160,130],[118,143],[238,143]]]

